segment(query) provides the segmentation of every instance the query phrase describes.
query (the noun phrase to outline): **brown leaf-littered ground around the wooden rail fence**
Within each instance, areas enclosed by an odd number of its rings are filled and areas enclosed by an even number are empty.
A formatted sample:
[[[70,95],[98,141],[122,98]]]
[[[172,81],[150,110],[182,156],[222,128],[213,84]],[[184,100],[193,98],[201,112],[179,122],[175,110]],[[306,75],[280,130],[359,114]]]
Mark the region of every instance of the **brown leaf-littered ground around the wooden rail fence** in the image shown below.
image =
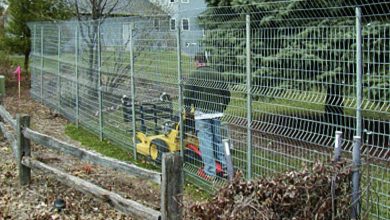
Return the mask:
[[[31,116],[31,127],[41,133],[78,145],[64,135],[68,123],[55,112],[30,99],[24,90],[21,99],[16,95],[4,100],[11,113],[26,113]],[[1,135],[2,136],[2,135]],[[52,152],[43,147],[32,146],[32,156],[51,166],[89,180],[105,189],[119,193],[125,198],[159,209],[159,186],[129,177],[101,167],[80,163],[71,157]],[[53,202],[62,198],[66,209],[53,210]],[[88,195],[71,189],[40,171],[32,172],[29,186],[19,185],[17,167],[9,144],[0,138],[0,220],[2,219],[133,219]]]

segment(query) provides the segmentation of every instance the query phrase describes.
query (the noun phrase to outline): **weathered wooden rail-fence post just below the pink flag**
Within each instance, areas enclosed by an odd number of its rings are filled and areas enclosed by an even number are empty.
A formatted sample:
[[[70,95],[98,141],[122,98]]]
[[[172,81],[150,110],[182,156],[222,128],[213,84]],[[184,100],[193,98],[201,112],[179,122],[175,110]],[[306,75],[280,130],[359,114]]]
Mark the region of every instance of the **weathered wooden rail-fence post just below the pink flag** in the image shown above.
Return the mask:
[[[19,166],[20,185],[28,185],[31,180],[31,169],[22,164],[24,156],[31,156],[30,140],[23,136],[23,128],[30,127],[30,116],[19,114],[16,115],[16,138],[17,138],[17,163]]]

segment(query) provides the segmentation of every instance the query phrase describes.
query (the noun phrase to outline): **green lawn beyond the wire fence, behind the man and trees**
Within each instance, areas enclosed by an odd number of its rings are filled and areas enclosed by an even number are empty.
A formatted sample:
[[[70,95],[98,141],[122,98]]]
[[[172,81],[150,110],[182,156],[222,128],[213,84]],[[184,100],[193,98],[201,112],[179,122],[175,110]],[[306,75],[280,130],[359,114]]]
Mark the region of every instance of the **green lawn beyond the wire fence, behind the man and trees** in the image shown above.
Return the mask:
[[[136,53],[137,54],[137,53]],[[86,56],[85,54],[84,56]],[[102,75],[103,81],[107,76],[114,76],[125,71],[125,74],[130,74],[129,70],[123,70],[125,66],[130,65],[130,55],[127,52],[115,53],[113,51],[104,51],[102,53]],[[53,74],[57,73],[58,62],[57,56],[47,56],[44,59],[44,70]],[[88,67],[88,63],[80,62],[81,67]],[[63,54],[61,62],[74,64],[74,54]],[[116,65],[118,64],[119,65]],[[174,50],[155,50],[142,51],[136,55],[135,60],[135,76],[138,79],[150,80],[153,83],[170,83],[177,84],[177,53]],[[182,55],[182,71],[183,75],[188,75],[193,70],[193,62],[191,57]],[[240,86],[238,86],[240,87]],[[236,88],[237,89],[237,88]],[[243,92],[234,91],[231,104],[227,113],[235,116],[245,117],[246,115],[246,98]],[[239,88],[238,88],[239,89]],[[242,90],[243,88],[241,88]],[[313,113],[323,113],[325,109],[326,91],[297,91],[292,90],[283,94],[274,96],[272,91],[268,91],[269,95],[262,95],[259,99],[255,99],[252,104],[253,118],[261,118],[263,115],[280,114],[292,116],[308,116]],[[378,103],[365,101],[362,109],[362,114],[365,118],[390,120],[390,105],[380,108]],[[346,116],[356,115],[356,100],[350,97],[345,97],[344,111]],[[366,106],[366,108],[364,108]],[[382,109],[379,111],[379,109]],[[383,111],[386,109],[387,111]]]

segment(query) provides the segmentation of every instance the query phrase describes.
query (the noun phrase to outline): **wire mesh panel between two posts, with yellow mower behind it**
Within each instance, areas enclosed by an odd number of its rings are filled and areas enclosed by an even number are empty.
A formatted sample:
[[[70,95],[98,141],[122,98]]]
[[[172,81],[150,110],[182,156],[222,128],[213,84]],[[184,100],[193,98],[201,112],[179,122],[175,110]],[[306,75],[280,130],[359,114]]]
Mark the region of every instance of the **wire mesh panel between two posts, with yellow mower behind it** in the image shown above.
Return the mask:
[[[165,17],[152,17],[133,31],[136,150],[157,164],[180,149],[177,39],[167,27]]]

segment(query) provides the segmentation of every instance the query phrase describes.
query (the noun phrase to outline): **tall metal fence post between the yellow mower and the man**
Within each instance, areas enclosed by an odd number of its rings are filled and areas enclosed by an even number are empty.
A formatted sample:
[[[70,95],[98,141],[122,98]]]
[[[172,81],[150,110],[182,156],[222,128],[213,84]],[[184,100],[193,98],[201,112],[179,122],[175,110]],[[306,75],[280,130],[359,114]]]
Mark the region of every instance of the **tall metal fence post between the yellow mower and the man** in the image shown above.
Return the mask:
[[[177,80],[179,82],[179,127],[180,127],[180,155],[184,157],[184,123],[183,123],[183,81],[181,66],[181,33],[180,22],[176,22],[176,49],[177,49]]]

